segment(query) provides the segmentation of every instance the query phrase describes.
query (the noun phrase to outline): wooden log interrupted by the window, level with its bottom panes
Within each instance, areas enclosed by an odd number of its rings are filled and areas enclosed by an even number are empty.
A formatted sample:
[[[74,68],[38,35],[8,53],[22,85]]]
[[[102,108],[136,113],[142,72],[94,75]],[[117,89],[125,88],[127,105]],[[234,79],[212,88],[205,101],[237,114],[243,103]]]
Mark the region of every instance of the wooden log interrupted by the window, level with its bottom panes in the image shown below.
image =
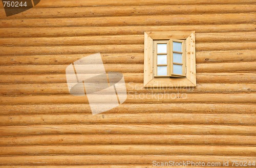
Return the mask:
[[[214,63],[214,64],[197,64],[197,73],[204,72],[242,72],[256,71],[255,62],[238,62],[238,63]],[[8,65],[0,66],[0,74],[65,74],[68,65]],[[92,68],[97,65],[90,65]],[[106,72],[120,73],[142,73],[142,64],[106,64],[104,65]],[[77,73],[97,73],[89,69],[89,66],[84,66]]]

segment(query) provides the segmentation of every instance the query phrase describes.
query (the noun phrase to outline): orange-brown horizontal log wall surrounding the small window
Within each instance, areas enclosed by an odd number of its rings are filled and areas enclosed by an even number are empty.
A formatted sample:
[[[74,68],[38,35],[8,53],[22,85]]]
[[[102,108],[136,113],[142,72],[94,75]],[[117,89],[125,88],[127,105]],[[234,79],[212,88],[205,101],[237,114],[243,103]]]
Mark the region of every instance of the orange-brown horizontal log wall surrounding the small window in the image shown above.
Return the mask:
[[[0,5],[0,167],[255,160],[255,0],[41,0],[8,18]],[[143,89],[144,32],[194,30],[197,87]],[[96,52],[129,94],[93,116],[65,69]]]

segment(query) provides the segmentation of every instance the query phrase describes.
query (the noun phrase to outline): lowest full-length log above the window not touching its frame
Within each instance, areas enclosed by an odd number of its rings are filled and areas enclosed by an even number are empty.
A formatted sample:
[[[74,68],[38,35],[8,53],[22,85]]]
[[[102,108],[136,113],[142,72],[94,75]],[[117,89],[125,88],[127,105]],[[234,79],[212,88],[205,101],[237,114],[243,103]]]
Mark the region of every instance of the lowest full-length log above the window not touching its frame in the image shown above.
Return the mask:
[[[151,15],[119,17],[81,17],[47,19],[2,19],[0,27],[52,27],[52,26],[127,26],[127,25],[189,25],[253,23],[255,13],[204,15]]]

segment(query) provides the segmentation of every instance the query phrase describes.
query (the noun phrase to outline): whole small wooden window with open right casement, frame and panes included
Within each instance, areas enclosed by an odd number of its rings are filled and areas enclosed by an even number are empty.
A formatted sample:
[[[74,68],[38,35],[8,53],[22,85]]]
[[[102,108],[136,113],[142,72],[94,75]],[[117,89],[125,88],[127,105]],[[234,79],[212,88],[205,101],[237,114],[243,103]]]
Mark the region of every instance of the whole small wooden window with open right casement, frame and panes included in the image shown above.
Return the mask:
[[[195,86],[195,31],[145,32],[144,87]]]

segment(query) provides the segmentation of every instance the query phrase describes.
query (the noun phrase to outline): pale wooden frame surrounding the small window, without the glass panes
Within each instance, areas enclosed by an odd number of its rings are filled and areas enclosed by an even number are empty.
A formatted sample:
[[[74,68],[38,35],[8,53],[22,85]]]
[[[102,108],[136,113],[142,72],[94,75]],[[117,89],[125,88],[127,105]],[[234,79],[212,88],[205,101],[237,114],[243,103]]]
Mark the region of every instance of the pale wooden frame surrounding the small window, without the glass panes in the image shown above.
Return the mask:
[[[185,40],[185,76],[179,75],[154,76],[154,40],[170,41]],[[172,47],[173,48],[173,47]],[[167,51],[168,52],[168,51]],[[172,52],[172,51],[171,51]],[[170,56],[170,55],[169,55]],[[173,61],[172,57],[171,60]],[[173,71],[169,72],[172,74]],[[184,72],[184,71],[183,71]],[[167,74],[168,75],[168,74]],[[196,87],[196,48],[195,31],[168,31],[168,32],[145,32],[144,33],[144,88],[163,88],[163,87]]]

